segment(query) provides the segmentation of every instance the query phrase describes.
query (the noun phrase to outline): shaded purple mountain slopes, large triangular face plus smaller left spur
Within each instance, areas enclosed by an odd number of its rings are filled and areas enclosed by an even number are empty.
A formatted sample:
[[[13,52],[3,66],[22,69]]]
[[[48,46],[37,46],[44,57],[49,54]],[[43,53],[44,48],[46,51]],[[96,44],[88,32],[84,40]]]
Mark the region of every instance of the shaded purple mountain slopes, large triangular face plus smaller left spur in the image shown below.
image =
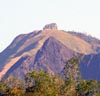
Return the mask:
[[[34,62],[29,56],[22,57],[7,71],[5,76],[7,77],[9,74],[12,74],[13,76],[24,78],[27,72],[39,69],[52,74],[60,73],[66,60],[75,55],[78,54],[53,37],[49,37],[44,42],[42,48],[36,53]]]

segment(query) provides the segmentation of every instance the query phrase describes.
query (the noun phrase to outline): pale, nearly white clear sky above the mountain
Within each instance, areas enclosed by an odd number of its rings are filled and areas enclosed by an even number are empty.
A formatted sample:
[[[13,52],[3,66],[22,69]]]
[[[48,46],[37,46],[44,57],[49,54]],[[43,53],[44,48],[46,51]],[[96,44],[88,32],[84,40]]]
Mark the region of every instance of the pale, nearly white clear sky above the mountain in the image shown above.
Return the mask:
[[[17,35],[49,23],[100,39],[100,0],[0,0],[0,52]]]

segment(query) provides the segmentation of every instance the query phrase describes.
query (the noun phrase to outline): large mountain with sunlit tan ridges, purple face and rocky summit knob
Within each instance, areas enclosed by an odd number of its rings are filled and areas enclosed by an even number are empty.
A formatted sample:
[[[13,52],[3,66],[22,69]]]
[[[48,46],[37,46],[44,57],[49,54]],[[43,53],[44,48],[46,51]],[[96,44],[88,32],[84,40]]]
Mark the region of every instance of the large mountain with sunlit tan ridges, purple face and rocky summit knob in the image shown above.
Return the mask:
[[[58,30],[56,23],[47,24],[43,30],[17,36],[0,53],[0,78],[10,74],[23,78],[39,69],[60,73],[68,59],[96,53],[94,47],[83,38]]]

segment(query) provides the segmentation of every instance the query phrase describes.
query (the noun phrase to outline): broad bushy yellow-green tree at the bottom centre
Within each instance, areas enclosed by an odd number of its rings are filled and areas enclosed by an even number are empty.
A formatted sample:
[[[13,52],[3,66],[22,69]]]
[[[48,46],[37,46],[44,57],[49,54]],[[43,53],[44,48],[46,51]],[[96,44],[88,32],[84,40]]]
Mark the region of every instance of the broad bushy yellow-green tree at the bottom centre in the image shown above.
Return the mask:
[[[40,70],[33,71],[26,77],[26,80],[29,81],[29,87],[27,87],[26,92],[34,93],[34,96],[59,96],[60,86],[63,84],[59,76],[50,75],[48,72]],[[30,81],[33,82],[31,86]]]

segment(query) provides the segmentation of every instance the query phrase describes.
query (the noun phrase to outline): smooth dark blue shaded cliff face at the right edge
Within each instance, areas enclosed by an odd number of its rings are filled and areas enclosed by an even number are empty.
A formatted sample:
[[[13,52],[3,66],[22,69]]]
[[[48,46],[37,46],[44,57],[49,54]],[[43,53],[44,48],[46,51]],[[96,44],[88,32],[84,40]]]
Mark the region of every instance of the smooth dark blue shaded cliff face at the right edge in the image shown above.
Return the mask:
[[[84,56],[80,61],[80,72],[86,80],[100,81],[100,54]]]

